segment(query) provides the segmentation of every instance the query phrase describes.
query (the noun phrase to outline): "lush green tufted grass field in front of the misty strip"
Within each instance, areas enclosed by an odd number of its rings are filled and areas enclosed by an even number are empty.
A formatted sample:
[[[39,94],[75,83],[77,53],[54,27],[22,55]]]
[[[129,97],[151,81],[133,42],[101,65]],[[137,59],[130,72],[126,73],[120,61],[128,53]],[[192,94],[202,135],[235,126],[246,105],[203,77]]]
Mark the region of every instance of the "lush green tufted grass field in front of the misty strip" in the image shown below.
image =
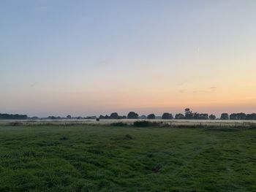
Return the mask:
[[[256,129],[0,126],[0,191],[256,191]]]

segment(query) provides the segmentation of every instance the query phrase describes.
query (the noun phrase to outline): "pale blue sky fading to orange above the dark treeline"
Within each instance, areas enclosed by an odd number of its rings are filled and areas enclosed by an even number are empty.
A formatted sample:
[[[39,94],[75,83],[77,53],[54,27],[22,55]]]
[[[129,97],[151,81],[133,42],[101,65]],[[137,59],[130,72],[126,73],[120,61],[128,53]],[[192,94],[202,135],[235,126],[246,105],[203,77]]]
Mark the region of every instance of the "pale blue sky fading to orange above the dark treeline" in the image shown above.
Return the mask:
[[[255,0],[1,0],[0,113],[256,112]]]

